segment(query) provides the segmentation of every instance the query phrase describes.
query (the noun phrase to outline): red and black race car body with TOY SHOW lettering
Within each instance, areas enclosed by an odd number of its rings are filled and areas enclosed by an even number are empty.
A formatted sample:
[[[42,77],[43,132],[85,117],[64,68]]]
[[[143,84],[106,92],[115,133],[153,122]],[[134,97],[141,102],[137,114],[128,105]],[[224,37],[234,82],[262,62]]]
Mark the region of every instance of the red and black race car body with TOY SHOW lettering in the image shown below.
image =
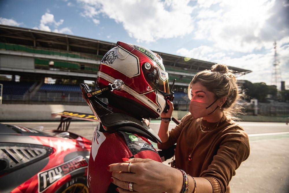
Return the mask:
[[[0,124],[0,192],[88,192],[91,144],[68,131]]]

